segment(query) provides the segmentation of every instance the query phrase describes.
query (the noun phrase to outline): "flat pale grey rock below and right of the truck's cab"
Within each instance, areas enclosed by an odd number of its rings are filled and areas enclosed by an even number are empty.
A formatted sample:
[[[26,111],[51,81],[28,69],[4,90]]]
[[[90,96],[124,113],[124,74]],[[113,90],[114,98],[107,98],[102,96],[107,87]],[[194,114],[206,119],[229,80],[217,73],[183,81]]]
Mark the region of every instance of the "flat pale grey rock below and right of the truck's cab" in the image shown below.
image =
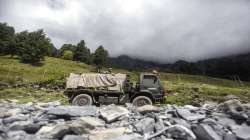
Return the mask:
[[[206,117],[205,114],[200,114],[196,112],[191,112],[189,109],[177,109],[178,115],[180,115],[183,119],[187,121],[196,121],[200,119],[204,119]]]

